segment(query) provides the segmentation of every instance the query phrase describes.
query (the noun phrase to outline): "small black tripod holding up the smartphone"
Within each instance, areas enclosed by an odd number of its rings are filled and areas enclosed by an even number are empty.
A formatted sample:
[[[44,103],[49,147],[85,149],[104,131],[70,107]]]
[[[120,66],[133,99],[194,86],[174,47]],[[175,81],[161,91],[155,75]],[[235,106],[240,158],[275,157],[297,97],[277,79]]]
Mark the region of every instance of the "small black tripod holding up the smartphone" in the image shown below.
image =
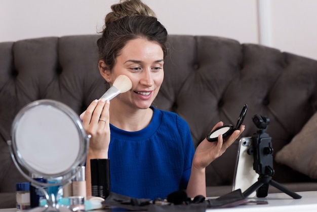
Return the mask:
[[[252,136],[253,147],[248,150],[248,154],[253,155],[253,169],[259,174],[259,178],[257,182],[243,192],[243,195],[248,197],[254,191],[257,191],[257,197],[266,197],[268,186],[272,185],[294,199],[300,199],[300,195],[272,180],[274,174],[273,148],[271,137],[265,132],[269,124],[269,119],[260,115],[254,115],[252,120],[259,130]]]

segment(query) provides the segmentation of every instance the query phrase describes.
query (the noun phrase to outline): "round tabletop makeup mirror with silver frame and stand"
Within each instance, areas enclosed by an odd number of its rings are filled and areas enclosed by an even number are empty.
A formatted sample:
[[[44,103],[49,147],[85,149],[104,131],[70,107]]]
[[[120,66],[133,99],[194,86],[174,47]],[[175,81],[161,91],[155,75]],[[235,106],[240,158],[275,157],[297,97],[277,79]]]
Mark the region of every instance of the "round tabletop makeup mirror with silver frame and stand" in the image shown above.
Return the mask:
[[[16,115],[8,141],[12,159],[24,178],[43,191],[48,202],[46,207],[30,211],[70,211],[59,206],[57,198],[62,187],[85,165],[89,138],[79,116],[55,100],[31,102]],[[32,179],[31,174],[42,176],[48,183]],[[50,193],[52,187],[57,187],[57,192]]]

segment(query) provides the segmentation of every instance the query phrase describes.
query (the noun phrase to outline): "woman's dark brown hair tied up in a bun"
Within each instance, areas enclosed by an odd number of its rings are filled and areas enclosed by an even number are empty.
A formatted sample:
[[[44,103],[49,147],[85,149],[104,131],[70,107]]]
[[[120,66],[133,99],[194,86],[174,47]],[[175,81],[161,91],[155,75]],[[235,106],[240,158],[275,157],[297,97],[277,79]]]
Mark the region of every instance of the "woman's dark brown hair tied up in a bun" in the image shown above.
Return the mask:
[[[98,39],[99,59],[108,69],[112,69],[115,58],[128,41],[144,38],[162,47],[164,57],[167,54],[167,30],[151,15],[154,12],[139,0],[125,1],[111,6],[107,14],[102,37]]]

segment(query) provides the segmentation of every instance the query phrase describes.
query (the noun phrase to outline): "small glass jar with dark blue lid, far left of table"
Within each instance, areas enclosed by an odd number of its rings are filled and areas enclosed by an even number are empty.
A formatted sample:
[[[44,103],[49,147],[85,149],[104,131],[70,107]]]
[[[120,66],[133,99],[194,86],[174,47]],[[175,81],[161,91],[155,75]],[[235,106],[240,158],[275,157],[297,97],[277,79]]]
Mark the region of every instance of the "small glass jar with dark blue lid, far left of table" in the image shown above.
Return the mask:
[[[30,183],[25,182],[16,184],[16,201],[18,210],[30,208]]]

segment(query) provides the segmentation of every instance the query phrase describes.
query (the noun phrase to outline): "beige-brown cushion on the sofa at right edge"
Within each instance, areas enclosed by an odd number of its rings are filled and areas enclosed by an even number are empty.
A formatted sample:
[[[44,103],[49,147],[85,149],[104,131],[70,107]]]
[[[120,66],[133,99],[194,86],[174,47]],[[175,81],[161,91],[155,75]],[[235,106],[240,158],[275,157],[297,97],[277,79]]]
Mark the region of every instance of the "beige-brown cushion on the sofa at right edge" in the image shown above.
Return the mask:
[[[309,119],[290,144],[276,153],[275,160],[317,179],[317,113]]]

